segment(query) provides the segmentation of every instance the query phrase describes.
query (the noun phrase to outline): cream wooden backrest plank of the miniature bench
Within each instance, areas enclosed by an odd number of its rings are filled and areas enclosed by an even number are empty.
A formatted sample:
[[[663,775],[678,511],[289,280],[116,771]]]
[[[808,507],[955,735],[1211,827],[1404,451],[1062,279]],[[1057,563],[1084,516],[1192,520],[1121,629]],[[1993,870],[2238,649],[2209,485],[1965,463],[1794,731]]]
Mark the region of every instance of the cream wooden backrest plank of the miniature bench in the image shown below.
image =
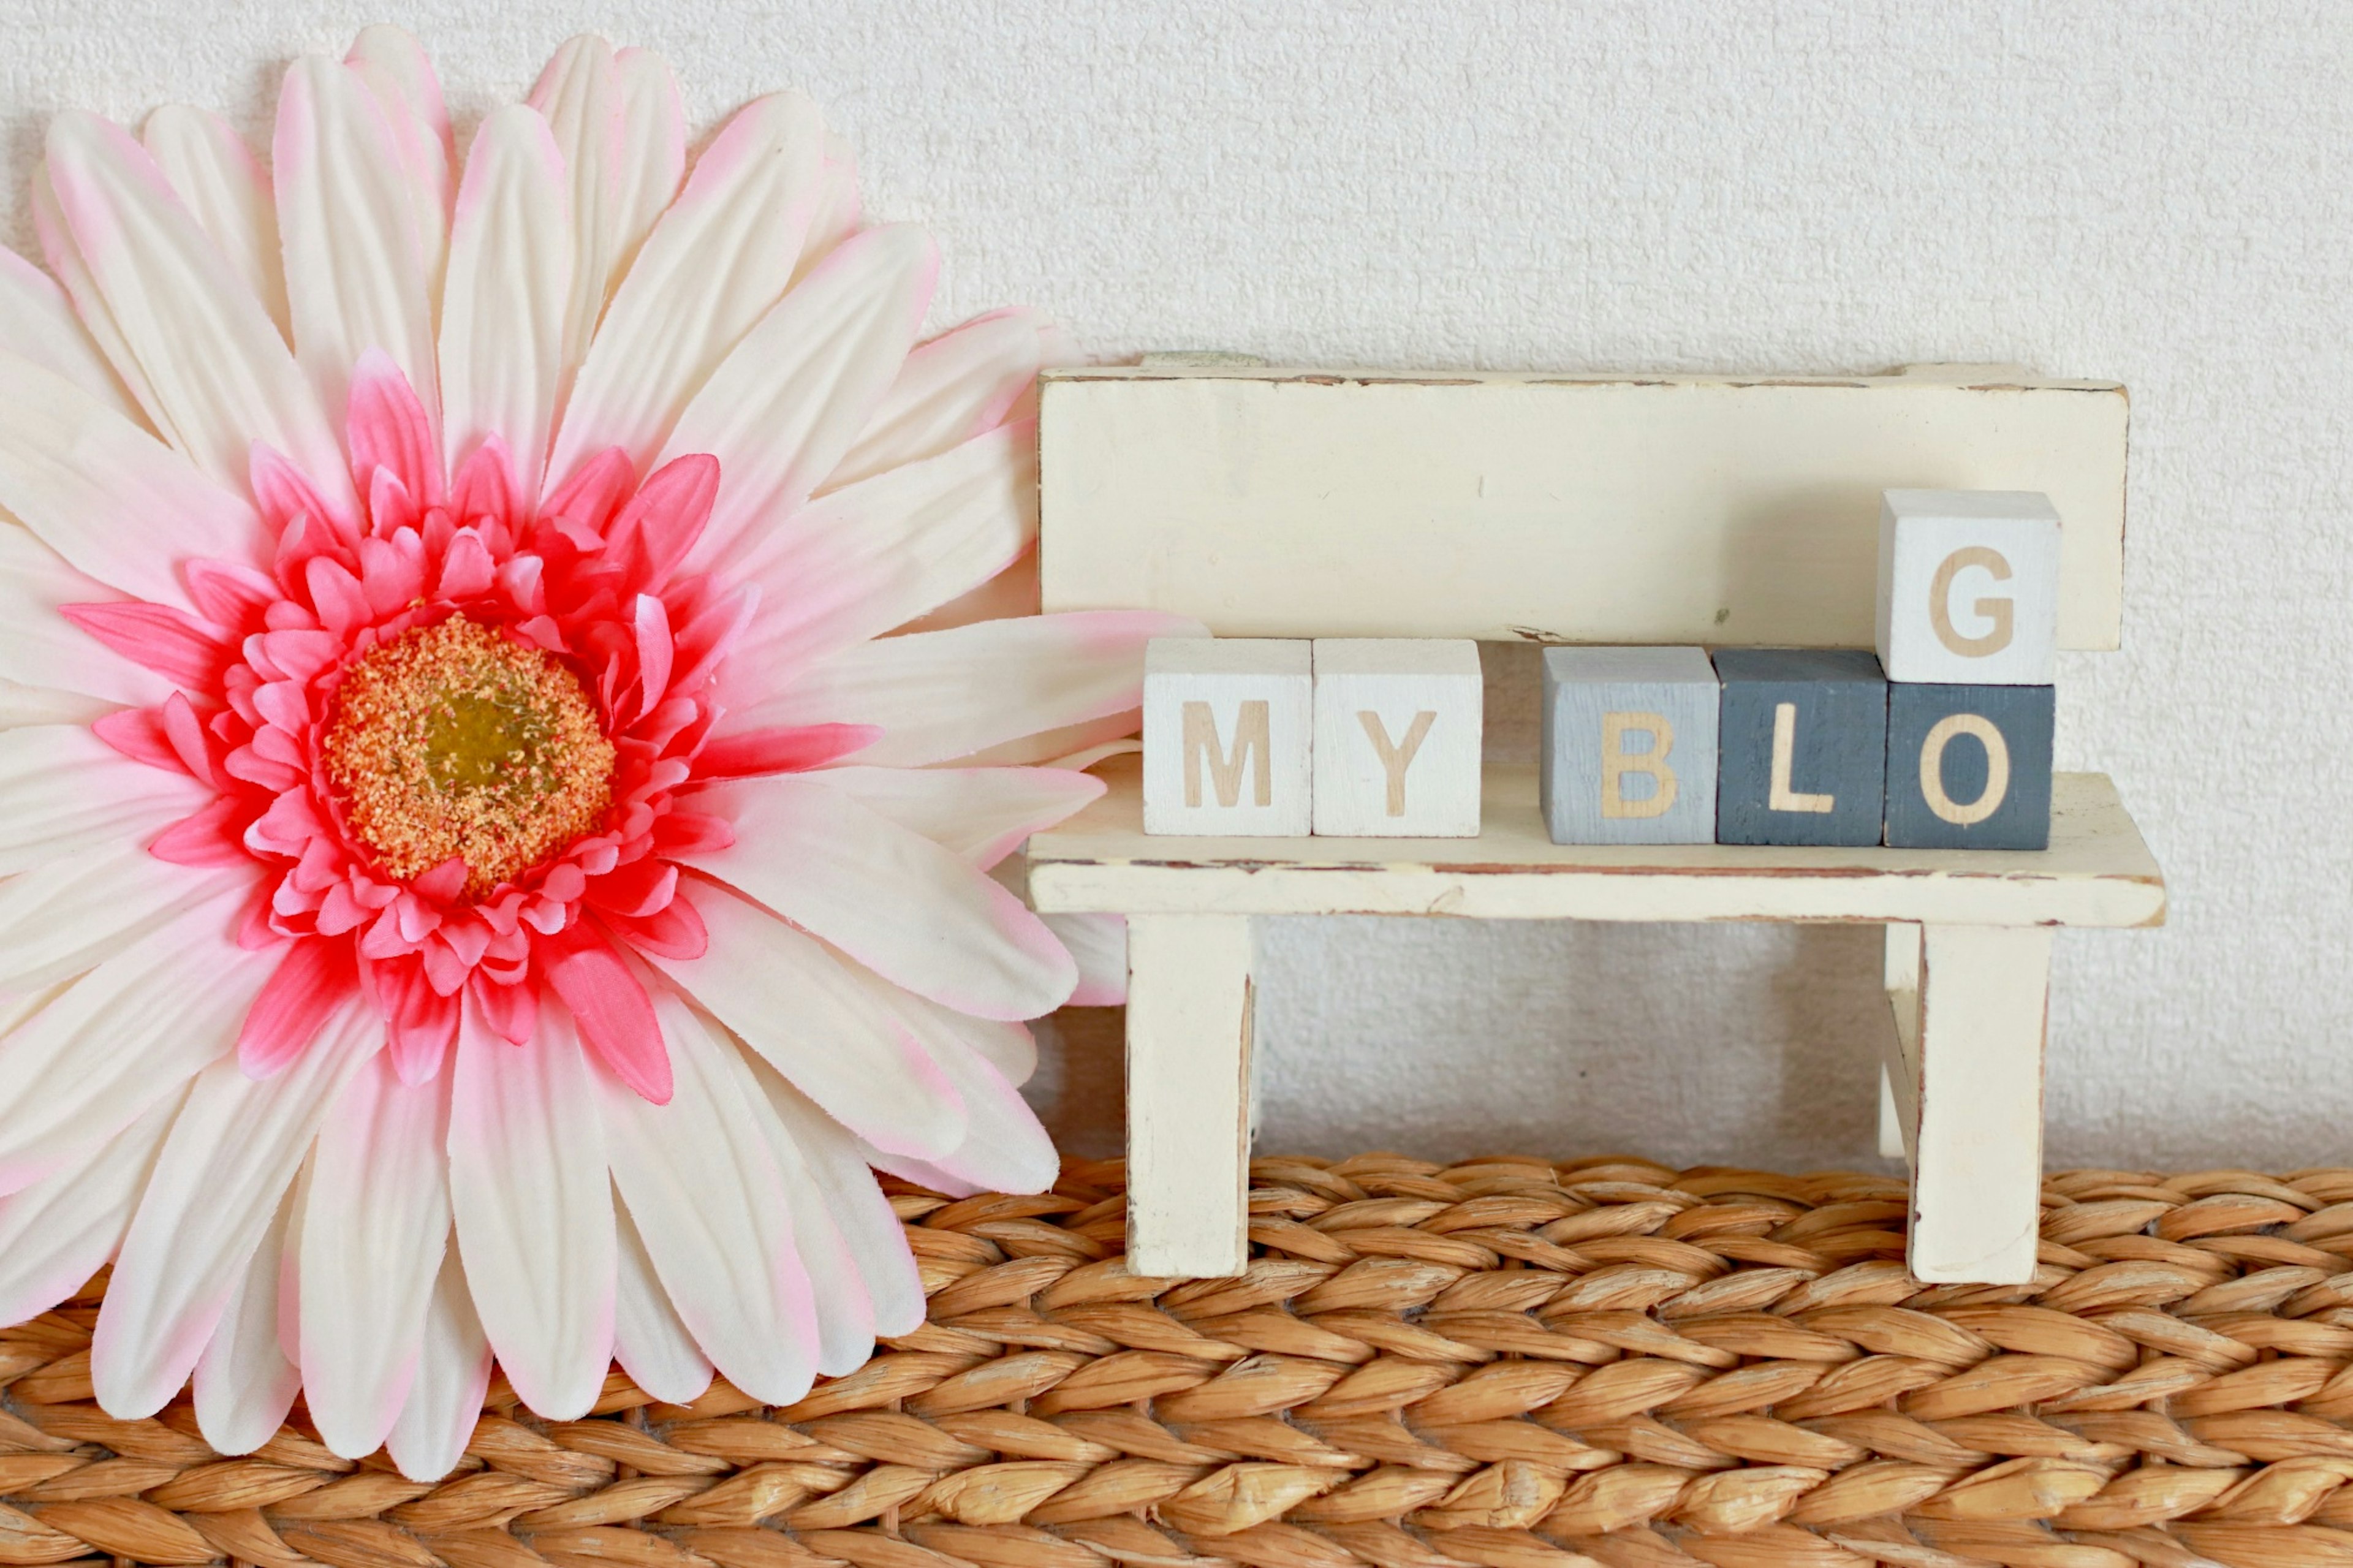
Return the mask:
[[[1087,367],[1040,386],[1047,610],[1221,636],[1854,645],[1880,490],[2042,490],[2059,645],[2115,647],[2125,388]]]

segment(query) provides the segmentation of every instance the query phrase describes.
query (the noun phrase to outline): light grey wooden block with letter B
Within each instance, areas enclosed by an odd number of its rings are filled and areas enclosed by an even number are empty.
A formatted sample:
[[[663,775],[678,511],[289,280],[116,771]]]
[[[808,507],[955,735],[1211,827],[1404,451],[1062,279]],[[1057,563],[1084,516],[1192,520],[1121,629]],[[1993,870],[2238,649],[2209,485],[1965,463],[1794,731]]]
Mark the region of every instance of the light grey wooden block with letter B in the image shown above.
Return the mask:
[[[1715,711],[1701,647],[1546,647],[1553,843],[1715,843]]]

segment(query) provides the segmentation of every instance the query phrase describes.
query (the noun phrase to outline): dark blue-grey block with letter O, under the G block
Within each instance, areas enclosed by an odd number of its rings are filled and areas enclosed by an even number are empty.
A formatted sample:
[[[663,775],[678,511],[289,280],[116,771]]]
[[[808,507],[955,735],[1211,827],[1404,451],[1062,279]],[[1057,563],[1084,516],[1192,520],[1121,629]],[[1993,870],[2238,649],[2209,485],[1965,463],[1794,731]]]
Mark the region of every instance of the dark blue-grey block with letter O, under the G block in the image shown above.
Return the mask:
[[[1899,850],[2047,850],[2047,685],[1887,687],[1887,843]]]

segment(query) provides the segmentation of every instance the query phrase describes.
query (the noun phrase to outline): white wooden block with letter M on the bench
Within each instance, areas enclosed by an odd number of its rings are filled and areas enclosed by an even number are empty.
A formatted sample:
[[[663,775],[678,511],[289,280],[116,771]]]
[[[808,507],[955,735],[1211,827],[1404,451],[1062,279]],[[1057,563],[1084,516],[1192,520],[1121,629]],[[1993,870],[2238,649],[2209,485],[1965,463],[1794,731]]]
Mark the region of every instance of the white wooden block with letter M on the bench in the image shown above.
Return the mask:
[[[1304,640],[1155,638],[1144,650],[1144,831],[1306,836],[1313,685]]]

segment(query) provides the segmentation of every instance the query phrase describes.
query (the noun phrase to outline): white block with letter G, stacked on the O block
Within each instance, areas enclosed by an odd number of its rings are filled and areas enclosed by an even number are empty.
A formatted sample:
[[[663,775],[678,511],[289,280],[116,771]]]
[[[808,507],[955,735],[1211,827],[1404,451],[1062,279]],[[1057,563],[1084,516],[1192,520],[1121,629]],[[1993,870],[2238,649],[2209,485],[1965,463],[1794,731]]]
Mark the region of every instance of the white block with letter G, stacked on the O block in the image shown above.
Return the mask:
[[[2059,513],[2038,490],[1880,497],[1880,664],[1889,680],[2049,685]]]

